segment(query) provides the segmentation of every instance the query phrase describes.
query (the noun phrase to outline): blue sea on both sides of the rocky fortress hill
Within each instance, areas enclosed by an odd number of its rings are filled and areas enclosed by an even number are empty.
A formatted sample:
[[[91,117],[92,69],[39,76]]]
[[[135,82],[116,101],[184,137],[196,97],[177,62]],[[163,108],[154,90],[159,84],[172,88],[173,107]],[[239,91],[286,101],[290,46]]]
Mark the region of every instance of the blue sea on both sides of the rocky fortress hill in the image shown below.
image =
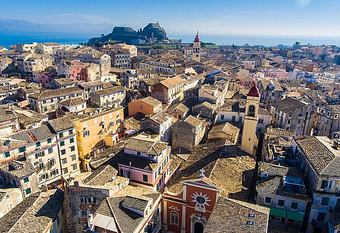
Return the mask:
[[[79,44],[87,42],[92,37],[100,37],[98,32],[32,32],[32,31],[1,31],[0,46],[9,47],[17,43],[56,42],[60,44]],[[182,39],[182,42],[192,42],[195,35],[168,34],[170,39]],[[265,45],[278,44],[293,45],[296,41],[301,44],[313,45],[340,45],[339,38],[306,37],[306,36],[250,36],[250,35],[209,35],[200,34],[204,42],[213,42],[219,45]]]

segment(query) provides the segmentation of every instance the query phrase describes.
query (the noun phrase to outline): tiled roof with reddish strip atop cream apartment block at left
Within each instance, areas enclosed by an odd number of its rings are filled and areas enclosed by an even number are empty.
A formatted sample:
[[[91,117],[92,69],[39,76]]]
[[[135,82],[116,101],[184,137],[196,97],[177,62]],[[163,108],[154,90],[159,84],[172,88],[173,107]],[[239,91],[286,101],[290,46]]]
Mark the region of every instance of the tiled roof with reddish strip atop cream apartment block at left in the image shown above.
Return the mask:
[[[55,132],[52,131],[52,129],[50,129],[47,125],[42,125],[36,128],[19,131],[10,135],[8,138],[33,143],[35,141],[53,137],[54,135]]]

